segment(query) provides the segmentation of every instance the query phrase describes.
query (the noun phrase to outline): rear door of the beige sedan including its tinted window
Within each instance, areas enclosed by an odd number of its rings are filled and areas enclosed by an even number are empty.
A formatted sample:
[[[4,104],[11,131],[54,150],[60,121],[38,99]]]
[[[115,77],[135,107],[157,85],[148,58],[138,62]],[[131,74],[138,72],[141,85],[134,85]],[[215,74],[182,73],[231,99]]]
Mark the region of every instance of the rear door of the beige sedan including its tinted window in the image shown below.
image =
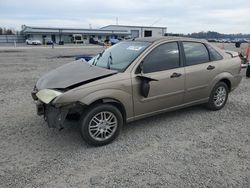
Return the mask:
[[[213,61],[209,46],[203,43],[183,42],[182,44],[186,75],[184,102],[198,102],[209,97],[209,86],[220,72],[220,61]]]

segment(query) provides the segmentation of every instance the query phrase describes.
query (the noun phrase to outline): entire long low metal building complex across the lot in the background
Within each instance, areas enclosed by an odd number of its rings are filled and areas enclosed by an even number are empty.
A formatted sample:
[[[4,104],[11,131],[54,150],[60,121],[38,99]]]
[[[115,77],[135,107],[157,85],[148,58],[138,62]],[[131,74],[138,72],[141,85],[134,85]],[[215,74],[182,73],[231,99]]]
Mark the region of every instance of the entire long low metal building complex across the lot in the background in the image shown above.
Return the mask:
[[[164,36],[166,27],[108,25],[100,29],[72,29],[53,27],[22,26],[25,39],[40,40],[43,44],[48,41],[59,43],[82,42],[85,44],[104,42],[107,39],[158,37]]]

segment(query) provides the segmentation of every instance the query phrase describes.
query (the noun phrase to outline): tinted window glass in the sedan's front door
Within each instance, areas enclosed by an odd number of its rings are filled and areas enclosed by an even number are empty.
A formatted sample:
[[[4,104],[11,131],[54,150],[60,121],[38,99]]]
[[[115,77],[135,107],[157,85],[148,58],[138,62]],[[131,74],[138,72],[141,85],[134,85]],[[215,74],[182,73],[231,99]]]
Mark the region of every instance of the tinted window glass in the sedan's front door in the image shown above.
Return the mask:
[[[180,66],[177,42],[162,44],[150,52],[143,61],[143,72],[157,72]]]

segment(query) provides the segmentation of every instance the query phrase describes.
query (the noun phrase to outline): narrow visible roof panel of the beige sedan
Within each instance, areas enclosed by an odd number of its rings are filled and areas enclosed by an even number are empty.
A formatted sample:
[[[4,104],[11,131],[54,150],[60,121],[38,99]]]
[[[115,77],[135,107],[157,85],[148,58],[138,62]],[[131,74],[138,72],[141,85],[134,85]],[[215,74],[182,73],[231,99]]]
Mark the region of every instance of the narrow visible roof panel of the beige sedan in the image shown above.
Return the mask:
[[[188,37],[172,37],[172,36],[163,36],[163,37],[142,37],[142,38],[135,38],[133,39],[137,42],[150,42],[150,43],[157,43],[163,41],[194,41],[194,42],[207,42],[204,39],[195,39],[195,38],[188,38]]]

